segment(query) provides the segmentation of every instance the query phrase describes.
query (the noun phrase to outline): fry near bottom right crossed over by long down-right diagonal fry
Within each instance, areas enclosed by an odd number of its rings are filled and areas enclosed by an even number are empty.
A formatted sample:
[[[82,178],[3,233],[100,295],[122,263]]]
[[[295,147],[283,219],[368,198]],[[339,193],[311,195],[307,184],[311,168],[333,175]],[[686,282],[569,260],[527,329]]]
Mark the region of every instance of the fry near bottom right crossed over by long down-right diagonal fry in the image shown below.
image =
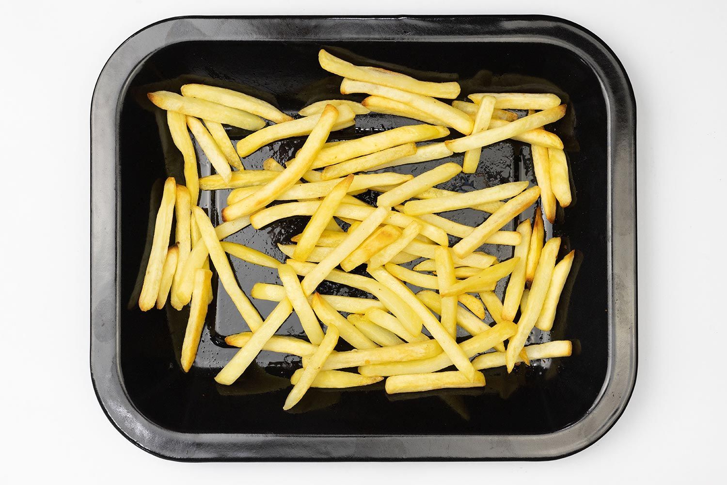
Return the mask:
[[[502,343],[517,332],[518,327],[512,322],[497,324],[492,328],[488,328],[486,332],[475,335],[459,344],[459,348],[465,353],[467,358],[476,356],[478,353],[485,352],[494,347],[497,343]],[[369,364],[358,367],[358,372],[365,376],[383,376],[401,374],[427,374],[429,372],[437,372],[451,366],[452,361],[446,353],[440,353],[437,356],[420,359],[417,361],[395,362],[385,364]]]

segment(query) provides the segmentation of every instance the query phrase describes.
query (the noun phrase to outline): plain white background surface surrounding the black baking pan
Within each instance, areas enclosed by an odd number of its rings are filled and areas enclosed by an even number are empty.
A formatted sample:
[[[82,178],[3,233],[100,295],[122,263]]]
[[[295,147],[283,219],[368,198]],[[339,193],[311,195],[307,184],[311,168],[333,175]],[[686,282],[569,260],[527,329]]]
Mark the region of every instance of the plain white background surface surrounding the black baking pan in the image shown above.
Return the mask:
[[[26,0],[3,11],[0,476],[199,484],[720,477],[723,1]],[[639,248],[638,380],[623,416],[594,446],[553,462],[189,464],[138,449],[101,412],[88,366],[89,104],[108,56],[134,31],[175,15],[404,13],[557,15],[622,60],[638,105]]]

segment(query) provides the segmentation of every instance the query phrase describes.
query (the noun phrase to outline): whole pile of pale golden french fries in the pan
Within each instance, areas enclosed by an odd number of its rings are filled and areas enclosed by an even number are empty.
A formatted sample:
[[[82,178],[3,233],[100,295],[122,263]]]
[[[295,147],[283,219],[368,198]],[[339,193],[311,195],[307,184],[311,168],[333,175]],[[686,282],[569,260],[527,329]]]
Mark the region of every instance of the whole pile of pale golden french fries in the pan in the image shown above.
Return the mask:
[[[225,339],[239,350],[215,380],[232,384],[261,350],[300,356],[302,369],[292,374],[284,409],[311,387],[350,388],[383,379],[387,393],[481,387],[482,369],[506,366],[511,372],[521,362],[571,355],[567,340],[526,345],[534,328],[552,328],[574,259],[571,251],[556,261],[561,239],[545,241],[542,216],[553,223],[556,204],[571,202],[563,143],[543,128],[561,119],[566,105],[552,94],[478,93],[457,100],[457,82],[419,81],[353,65],[325,50],[318,60],[343,77],[342,94],[368,97],[361,103],[314,103],[294,119],[257,98],[203,84],[186,84],[181,94],[148,93],[166,110],[186,185],[172,177],[164,184],[139,307],[190,305],[182,369],[193,365],[212,302],[211,268],[249,330]],[[518,118],[513,110],[527,114]],[[328,141],[372,111],[423,123]],[[250,134],[233,145],[223,124]],[[462,136],[433,141],[450,129]],[[199,177],[190,132],[214,175]],[[247,156],[289,137],[306,138],[285,167],[274,159],[262,169],[244,167]],[[474,173],[482,148],[507,139],[531,145],[537,185],[514,182],[465,193],[436,188],[460,172]],[[454,153],[463,154],[461,163],[442,163],[417,177],[387,171]],[[199,191],[222,189],[233,190],[222,210],[224,223],[214,227],[198,207]],[[379,193],[375,207],[355,197],[364,191]],[[538,200],[532,221],[503,231]],[[276,201],[283,203],[270,205]],[[437,215],[462,209],[488,216],[471,227]],[[224,241],[248,225],[260,229],[296,215],[310,219],[292,244],[280,245],[285,262]],[[169,246],[173,223],[175,244]],[[459,238],[457,244],[449,247],[449,236]],[[514,246],[513,257],[498,262],[480,250],[483,244]],[[258,282],[251,292],[255,299],[277,302],[265,318],[238,285],[228,254],[278,271],[279,284]],[[420,261],[413,269],[403,266],[414,260]],[[369,276],[351,273],[361,265]],[[500,300],[495,286],[508,277]],[[371,297],[319,294],[324,280]],[[276,335],[293,311],[305,340]],[[493,326],[484,321],[486,311]],[[469,337],[462,339],[463,332]],[[353,350],[335,350],[340,340]],[[451,366],[456,370],[442,372]]]

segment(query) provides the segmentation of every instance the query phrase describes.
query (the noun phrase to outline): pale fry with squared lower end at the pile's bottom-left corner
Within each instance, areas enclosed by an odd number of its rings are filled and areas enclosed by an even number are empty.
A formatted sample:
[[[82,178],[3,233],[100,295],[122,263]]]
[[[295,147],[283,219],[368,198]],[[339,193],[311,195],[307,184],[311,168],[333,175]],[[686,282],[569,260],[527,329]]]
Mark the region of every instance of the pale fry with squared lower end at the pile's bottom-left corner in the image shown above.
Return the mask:
[[[265,318],[265,322],[253,330],[254,333],[250,340],[217,373],[214,380],[222,385],[230,385],[235,382],[245,372],[247,366],[252,363],[255,356],[260,353],[270,337],[273,337],[273,334],[278,331],[292,311],[293,307],[287,298],[278,303],[276,308],[270,312],[268,318]]]

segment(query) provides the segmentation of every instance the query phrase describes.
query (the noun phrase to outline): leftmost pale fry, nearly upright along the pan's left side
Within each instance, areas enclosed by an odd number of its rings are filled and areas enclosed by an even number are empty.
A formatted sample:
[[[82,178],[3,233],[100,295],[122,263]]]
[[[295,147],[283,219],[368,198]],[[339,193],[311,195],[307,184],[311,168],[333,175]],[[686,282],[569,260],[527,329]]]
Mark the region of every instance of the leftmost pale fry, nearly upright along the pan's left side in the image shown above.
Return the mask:
[[[154,237],[151,243],[149,261],[144,274],[144,284],[139,295],[139,308],[142,311],[150,310],[156,304],[156,298],[161,286],[161,273],[164,268],[166,252],[169,249],[169,235],[172,232],[172,217],[174,215],[174,201],[177,198],[177,184],[174,177],[164,182],[164,193],[161,196],[159,211],[156,213],[154,223]]]

